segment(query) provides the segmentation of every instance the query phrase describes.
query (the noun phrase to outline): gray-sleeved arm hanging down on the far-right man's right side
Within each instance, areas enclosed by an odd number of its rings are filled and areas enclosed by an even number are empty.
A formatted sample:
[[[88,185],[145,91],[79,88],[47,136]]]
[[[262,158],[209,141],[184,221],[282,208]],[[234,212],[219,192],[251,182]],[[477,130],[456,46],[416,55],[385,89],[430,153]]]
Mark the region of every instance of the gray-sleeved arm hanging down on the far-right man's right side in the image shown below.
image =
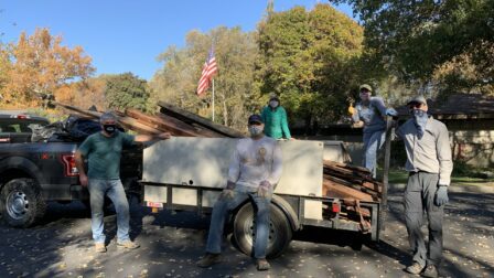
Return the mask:
[[[453,160],[448,129],[442,122],[439,127],[439,135],[436,140],[436,150],[439,160],[439,185],[450,185]]]

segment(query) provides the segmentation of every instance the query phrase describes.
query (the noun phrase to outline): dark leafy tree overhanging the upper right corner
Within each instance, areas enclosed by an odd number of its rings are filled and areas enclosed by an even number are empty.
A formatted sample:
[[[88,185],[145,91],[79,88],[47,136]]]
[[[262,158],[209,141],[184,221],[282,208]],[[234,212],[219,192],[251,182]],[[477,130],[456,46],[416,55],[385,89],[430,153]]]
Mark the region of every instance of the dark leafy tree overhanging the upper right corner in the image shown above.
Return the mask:
[[[375,68],[439,90],[492,92],[494,1],[330,2],[353,6],[365,28],[365,45]],[[453,71],[453,64],[466,70]]]

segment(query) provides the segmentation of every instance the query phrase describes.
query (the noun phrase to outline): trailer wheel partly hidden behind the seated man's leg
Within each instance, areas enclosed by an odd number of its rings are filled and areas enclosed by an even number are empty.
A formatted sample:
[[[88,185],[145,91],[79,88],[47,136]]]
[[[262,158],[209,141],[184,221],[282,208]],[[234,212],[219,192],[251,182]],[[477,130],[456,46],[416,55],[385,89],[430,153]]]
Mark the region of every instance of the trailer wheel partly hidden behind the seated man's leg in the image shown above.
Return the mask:
[[[240,252],[249,256],[253,255],[255,238],[254,220],[254,209],[249,202],[238,211],[234,221],[234,240]],[[269,239],[266,254],[269,258],[276,258],[280,256],[290,244],[292,229],[284,213],[273,204],[271,204],[271,221],[269,227]]]

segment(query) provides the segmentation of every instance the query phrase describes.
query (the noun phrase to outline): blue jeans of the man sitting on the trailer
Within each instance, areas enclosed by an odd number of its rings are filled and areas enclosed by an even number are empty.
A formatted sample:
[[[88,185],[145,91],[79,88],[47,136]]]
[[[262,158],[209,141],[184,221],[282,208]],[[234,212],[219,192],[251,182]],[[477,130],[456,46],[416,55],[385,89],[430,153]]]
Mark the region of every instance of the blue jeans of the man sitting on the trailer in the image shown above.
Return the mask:
[[[255,258],[266,258],[269,237],[269,216],[271,194],[268,197],[260,197],[256,192],[235,191],[233,199],[219,197],[214,204],[213,215],[211,217],[210,235],[207,236],[206,252],[212,254],[222,253],[223,229],[225,218],[232,210],[245,202],[247,199],[254,201],[256,212],[256,239],[254,246]]]

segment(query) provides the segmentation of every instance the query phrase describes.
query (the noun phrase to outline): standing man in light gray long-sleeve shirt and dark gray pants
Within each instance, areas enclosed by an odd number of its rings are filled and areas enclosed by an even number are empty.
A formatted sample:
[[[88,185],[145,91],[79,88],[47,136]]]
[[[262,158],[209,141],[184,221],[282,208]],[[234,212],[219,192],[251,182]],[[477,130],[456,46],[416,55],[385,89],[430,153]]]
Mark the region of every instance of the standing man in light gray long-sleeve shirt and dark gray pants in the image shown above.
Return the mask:
[[[397,136],[405,141],[405,168],[409,172],[405,190],[405,218],[414,263],[406,270],[437,277],[437,267],[442,259],[443,209],[449,201],[448,186],[453,169],[451,147],[447,127],[427,114],[428,106],[422,96],[412,98],[408,108],[412,118],[397,130]],[[420,231],[425,212],[429,221],[427,248]]]

